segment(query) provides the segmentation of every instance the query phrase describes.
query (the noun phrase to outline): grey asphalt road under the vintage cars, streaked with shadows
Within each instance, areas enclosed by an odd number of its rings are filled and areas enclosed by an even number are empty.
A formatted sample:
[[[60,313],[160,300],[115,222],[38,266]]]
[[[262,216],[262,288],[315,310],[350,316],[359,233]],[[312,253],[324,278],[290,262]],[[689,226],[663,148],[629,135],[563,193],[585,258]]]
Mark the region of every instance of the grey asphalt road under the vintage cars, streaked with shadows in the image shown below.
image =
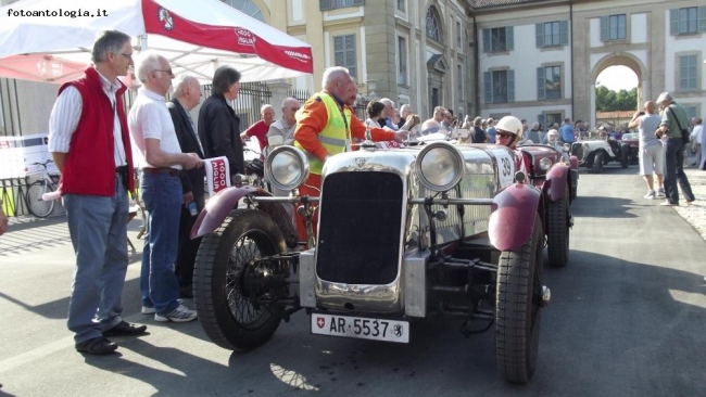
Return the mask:
[[[0,238],[0,396],[704,396],[706,243],[642,200],[635,172],[581,175],[569,265],[544,272],[552,303],[528,385],[497,375],[492,331],[466,340],[454,319],[414,324],[400,345],[314,336],[299,312],[262,348],[232,354],[198,321],[139,312],[139,251],[125,315],[150,333],[85,357],[65,326],[74,254],[59,218]]]

